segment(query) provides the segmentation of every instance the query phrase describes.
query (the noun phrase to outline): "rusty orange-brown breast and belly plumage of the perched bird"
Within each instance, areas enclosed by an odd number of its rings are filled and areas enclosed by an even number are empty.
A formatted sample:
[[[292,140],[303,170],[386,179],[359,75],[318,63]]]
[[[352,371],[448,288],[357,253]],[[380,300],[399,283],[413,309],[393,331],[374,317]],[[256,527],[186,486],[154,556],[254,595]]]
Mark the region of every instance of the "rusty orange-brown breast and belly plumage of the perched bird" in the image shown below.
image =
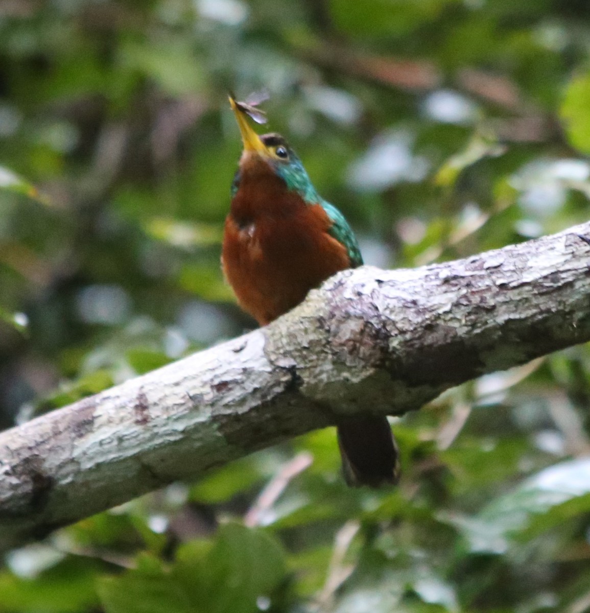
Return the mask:
[[[306,204],[266,162],[252,158],[242,166],[226,219],[222,262],[240,306],[264,326],[350,267],[350,258],[328,234],[324,208]]]

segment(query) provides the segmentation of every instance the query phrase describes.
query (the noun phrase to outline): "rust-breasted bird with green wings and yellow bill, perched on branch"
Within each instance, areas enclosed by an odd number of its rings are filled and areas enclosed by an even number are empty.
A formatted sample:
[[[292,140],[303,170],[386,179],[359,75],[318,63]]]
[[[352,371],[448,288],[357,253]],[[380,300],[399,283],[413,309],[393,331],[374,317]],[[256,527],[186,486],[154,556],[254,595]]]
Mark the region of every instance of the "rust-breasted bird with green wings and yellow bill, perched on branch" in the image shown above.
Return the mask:
[[[310,289],[363,261],[347,220],[318,194],[286,140],[275,132],[259,135],[248,123],[251,107],[232,94],[229,103],[243,150],[224,223],[221,267],[240,307],[266,326]],[[348,485],[397,483],[399,453],[385,416],[339,417],[335,425]]]

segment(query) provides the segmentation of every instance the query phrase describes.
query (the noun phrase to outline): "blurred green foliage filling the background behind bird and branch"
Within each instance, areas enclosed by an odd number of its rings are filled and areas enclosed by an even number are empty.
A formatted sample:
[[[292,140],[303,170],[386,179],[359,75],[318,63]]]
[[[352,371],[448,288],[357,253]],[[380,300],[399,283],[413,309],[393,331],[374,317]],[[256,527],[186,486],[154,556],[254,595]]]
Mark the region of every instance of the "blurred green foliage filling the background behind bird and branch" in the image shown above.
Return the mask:
[[[2,427],[253,327],[228,89],[416,266],[588,219],[589,51],[584,0],[1,0]],[[7,555],[0,612],[590,611],[589,373],[406,416],[396,490],[347,489],[325,430],[91,517]]]

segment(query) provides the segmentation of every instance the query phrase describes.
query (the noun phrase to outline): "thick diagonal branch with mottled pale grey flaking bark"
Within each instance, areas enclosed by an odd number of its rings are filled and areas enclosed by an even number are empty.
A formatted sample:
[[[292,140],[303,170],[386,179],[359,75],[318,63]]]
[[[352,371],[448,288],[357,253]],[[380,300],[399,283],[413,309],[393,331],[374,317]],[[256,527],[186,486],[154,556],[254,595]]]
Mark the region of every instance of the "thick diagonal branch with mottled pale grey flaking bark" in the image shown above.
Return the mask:
[[[347,270],[272,325],[0,434],[0,547],[334,423],[590,340],[590,224]]]

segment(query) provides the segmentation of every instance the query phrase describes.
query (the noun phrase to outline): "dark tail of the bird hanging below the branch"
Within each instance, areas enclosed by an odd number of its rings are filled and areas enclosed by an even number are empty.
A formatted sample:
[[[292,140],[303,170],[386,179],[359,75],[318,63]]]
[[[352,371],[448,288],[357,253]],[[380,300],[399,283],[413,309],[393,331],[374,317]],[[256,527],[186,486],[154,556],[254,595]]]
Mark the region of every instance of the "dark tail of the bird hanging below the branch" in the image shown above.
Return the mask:
[[[337,424],[342,470],[348,485],[381,487],[399,479],[399,454],[387,417],[350,417]]]

